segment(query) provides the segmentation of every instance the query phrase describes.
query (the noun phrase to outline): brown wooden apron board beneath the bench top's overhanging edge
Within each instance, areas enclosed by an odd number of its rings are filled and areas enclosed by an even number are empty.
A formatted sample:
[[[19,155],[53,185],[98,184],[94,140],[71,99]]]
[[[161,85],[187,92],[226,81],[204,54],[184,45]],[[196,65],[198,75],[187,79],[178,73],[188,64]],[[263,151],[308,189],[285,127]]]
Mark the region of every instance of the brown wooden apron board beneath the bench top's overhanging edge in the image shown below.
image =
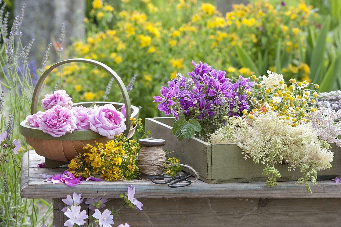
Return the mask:
[[[260,198],[138,199],[144,204],[143,211],[123,208],[114,219],[114,226],[124,223],[148,227],[340,225],[337,217],[341,215],[341,199],[270,198],[264,200],[267,201],[262,203],[264,207],[259,204]],[[121,201],[111,199],[102,210],[118,209]],[[92,215],[93,212],[89,212],[88,215]]]

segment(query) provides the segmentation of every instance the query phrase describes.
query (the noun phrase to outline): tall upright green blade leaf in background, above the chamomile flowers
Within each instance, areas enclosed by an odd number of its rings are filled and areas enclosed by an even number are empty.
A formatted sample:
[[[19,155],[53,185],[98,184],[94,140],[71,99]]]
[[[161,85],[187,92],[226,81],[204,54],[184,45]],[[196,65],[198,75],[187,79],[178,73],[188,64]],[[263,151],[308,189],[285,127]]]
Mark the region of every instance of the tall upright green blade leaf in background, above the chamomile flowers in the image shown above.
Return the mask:
[[[317,83],[321,70],[321,64],[323,64],[324,52],[326,48],[327,33],[330,26],[330,17],[328,16],[325,22],[322,24],[322,29],[317,36],[315,47],[312,51],[311,61],[310,61],[310,71],[313,83]],[[318,70],[320,68],[320,70]]]

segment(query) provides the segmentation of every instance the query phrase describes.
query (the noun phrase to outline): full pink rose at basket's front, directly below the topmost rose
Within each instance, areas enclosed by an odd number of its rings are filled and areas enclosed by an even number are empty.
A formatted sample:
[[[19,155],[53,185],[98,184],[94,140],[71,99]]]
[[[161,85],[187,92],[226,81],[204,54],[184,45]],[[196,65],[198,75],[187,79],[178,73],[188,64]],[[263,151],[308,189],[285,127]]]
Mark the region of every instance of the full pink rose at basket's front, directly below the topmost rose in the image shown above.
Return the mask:
[[[39,129],[50,134],[53,137],[61,137],[66,132],[72,132],[77,129],[73,111],[56,105],[47,110],[43,115]]]

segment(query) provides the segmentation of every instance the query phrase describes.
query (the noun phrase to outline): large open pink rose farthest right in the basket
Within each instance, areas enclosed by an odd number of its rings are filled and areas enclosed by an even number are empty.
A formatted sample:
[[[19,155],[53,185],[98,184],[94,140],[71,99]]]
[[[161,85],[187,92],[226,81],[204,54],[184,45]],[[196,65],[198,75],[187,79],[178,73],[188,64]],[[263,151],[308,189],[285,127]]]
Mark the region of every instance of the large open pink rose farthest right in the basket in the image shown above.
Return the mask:
[[[101,136],[113,139],[115,135],[124,132],[127,127],[124,124],[123,114],[116,110],[112,104],[95,106],[93,114],[89,115],[90,129]]]

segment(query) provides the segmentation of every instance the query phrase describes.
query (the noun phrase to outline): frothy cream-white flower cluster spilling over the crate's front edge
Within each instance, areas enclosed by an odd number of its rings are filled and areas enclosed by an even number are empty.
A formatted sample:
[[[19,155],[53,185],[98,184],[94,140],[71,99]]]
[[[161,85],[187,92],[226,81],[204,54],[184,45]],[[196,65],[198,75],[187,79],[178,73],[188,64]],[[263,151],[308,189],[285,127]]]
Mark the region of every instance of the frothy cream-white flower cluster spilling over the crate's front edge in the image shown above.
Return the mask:
[[[330,168],[333,158],[329,144],[317,138],[310,123],[292,127],[283,124],[275,112],[260,115],[243,133],[237,128],[235,140],[245,159],[266,165],[263,175],[269,177],[268,186],[278,185],[281,176],[275,164],[287,164],[289,170],[300,169],[303,176],[298,180],[311,192],[308,181],[316,184],[317,170]]]

